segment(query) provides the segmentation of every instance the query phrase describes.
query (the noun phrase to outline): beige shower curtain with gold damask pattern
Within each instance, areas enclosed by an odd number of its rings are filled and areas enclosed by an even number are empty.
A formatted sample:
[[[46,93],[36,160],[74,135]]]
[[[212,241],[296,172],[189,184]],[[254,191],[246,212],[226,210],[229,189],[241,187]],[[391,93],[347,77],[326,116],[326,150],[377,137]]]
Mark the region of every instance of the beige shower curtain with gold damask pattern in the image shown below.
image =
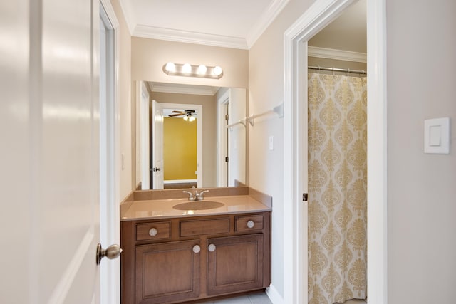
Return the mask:
[[[366,298],[367,78],[309,73],[309,303]]]

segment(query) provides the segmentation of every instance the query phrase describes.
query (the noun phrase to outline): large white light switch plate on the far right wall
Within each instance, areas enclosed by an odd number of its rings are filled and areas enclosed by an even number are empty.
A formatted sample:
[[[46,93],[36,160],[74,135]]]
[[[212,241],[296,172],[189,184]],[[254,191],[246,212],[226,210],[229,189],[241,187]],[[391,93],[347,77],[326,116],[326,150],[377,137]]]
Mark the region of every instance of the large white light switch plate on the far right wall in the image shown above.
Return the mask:
[[[425,120],[425,153],[450,153],[450,117]]]

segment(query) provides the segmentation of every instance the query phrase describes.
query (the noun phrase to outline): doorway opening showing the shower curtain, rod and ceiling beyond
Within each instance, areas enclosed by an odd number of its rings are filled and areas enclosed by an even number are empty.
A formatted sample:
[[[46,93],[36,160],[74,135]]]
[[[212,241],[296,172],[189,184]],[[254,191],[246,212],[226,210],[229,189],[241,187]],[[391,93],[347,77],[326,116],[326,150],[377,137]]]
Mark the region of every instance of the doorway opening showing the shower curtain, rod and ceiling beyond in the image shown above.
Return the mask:
[[[309,303],[366,304],[366,53],[366,0],[308,41]]]

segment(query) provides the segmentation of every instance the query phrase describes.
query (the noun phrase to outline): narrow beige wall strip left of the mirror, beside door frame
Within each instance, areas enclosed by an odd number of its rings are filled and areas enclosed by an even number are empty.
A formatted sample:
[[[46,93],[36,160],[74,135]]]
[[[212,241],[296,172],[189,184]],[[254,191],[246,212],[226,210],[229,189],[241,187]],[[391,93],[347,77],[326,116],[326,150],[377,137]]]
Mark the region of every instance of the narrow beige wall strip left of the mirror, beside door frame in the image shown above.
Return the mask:
[[[118,0],[111,0],[115,16],[119,21],[119,83],[120,83],[120,157],[124,158],[124,168],[120,164],[120,200],[124,199],[134,187],[133,165],[135,166],[135,113],[134,99],[131,98],[131,36]],[[122,162],[122,159],[120,160]]]

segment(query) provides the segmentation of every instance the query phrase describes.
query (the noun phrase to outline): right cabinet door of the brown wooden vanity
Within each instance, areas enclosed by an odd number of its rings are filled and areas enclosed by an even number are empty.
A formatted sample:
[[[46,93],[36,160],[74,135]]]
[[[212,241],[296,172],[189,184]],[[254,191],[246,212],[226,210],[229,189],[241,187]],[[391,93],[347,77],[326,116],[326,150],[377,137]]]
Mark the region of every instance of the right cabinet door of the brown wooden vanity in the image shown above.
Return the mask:
[[[207,239],[207,294],[263,287],[263,234]]]

